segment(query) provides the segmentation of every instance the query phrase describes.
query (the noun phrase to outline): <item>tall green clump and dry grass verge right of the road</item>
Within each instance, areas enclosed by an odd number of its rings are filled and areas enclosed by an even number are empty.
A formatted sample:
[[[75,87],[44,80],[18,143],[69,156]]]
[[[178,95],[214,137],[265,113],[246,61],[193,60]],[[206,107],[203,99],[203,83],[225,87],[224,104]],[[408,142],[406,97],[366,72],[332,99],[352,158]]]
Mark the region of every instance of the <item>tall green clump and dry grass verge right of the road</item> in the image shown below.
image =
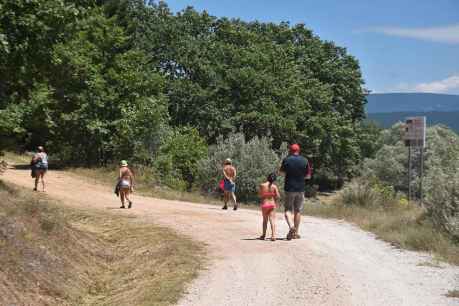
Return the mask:
[[[348,220],[395,246],[430,252],[459,264],[459,245],[439,230],[430,210],[408,202],[376,178],[352,181],[334,204],[313,209],[312,214]]]

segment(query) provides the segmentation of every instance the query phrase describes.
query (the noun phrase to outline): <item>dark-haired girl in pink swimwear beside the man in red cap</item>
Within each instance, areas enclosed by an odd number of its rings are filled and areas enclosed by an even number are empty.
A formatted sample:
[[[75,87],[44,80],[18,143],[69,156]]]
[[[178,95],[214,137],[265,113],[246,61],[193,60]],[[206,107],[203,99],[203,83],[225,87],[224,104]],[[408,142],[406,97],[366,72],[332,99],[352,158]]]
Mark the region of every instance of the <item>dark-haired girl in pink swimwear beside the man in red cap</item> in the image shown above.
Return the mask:
[[[261,199],[261,213],[263,215],[263,234],[260,240],[265,240],[268,221],[271,225],[271,241],[276,241],[276,200],[280,198],[279,189],[274,184],[276,174],[268,175],[266,182],[260,184],[258,195]]]

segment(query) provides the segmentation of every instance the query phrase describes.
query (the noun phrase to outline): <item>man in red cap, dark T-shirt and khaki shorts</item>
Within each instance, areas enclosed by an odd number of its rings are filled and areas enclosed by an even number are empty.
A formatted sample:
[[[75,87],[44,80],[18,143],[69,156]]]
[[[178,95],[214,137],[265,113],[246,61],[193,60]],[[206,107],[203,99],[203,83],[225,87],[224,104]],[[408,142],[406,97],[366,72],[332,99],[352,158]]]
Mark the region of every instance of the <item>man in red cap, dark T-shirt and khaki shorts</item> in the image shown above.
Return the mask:
[[[280,173],[285,174],[285,220],[289,232],[287,239],[299,239],[301,212],[304,207],[305,180],[308,176],[308,161],[300,155],[300,146],[292,144],[289,155],[282,161]],[[289,212],[293,215],[293,222]]]

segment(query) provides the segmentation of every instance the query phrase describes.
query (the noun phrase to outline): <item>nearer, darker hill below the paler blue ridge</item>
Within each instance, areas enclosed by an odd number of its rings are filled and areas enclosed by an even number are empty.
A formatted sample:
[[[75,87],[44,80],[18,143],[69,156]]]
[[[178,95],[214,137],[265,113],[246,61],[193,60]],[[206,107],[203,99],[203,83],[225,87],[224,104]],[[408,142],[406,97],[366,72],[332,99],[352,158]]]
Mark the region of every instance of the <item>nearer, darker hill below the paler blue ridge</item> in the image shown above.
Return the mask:
[[[398,121],[404,122],[406,117],[411,116],[426,116],[428,126],[443,124],[459,133],[459,111],[377,113],[368,114],[368,119],[383,128],[388,128]]]

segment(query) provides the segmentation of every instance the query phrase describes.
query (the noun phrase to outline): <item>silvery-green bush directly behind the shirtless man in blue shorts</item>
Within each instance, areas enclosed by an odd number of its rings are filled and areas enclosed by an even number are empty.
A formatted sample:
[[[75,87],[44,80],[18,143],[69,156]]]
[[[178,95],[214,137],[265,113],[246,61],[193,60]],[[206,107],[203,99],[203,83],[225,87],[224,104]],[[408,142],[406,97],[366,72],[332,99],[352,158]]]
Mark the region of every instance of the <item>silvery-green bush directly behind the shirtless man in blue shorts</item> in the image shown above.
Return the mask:
[[[286,146],[283,145],[286,152]],[[277,171],[281,156],[271,148],[271,139],[255,137],[246,141],[243,134],[232,134],[227,139],[219,138],[217,144],[209,148],[209,155],[199,163],[199,185],[208,193],[216,190],[223,178],[222,163],[231,158],[237,170],[236,194],[240,200],[257,199],[258,185],[267,174]],[[280,177],[277,182],[282,186]]]

